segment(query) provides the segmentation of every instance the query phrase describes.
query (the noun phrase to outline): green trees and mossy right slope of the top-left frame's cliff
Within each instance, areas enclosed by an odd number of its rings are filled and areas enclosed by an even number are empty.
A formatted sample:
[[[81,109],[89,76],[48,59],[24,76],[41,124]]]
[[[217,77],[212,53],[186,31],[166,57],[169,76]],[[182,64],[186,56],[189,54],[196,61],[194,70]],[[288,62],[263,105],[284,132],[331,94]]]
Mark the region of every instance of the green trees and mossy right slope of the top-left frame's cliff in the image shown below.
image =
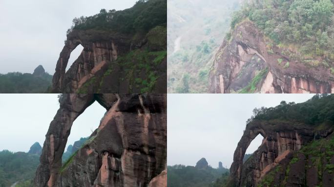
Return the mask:
[[[167,0],[138,0],[122,11],[102,9],[94,16],[75,18],[67,36],[78,30],[122,34],[128,46],[77,93],[149,93],[166,88]]]

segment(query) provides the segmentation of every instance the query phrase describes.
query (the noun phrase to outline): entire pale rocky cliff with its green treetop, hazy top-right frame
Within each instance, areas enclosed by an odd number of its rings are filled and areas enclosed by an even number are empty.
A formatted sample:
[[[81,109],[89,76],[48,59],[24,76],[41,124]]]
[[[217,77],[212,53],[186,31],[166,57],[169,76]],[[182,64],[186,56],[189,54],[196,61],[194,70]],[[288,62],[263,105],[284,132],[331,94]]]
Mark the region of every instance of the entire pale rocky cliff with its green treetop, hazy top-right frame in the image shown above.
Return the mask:
[[[215,56],[208,92],[333,93],[333,15],[333,0],[245,1]]]

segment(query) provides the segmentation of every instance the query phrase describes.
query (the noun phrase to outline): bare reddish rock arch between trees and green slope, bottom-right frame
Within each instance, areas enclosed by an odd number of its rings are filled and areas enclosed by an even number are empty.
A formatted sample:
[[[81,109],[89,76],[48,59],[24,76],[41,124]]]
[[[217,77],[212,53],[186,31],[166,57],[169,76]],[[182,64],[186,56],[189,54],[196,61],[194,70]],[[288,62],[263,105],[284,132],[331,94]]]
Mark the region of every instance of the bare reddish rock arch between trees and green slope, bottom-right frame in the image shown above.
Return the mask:
[[[327,136],[333,130],[325,130],[322,136]],[[243,163],[250,142],[261,134],[264,140],[253,153],[252,159]],[[294,126],[285,122],[269,122],[254,120],[250,122],[234,151],[233,163],[230,168],[230,186],[255,187],[261,178],[272,168],[280,164],[301,146],[312,141],[314,130],[309,126]]]

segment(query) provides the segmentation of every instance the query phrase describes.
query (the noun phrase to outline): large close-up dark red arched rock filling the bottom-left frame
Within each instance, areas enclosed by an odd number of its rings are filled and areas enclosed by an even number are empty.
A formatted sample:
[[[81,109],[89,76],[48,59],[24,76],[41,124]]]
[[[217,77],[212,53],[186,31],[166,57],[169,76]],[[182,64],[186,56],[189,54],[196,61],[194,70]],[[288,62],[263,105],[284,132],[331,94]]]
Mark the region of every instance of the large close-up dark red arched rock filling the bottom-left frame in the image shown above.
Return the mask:
[[[73,121],[94,101],[107,112],[62,167]],[[36,187],[146,187],[165,184],[166,94],[63,94],[36,172]]]

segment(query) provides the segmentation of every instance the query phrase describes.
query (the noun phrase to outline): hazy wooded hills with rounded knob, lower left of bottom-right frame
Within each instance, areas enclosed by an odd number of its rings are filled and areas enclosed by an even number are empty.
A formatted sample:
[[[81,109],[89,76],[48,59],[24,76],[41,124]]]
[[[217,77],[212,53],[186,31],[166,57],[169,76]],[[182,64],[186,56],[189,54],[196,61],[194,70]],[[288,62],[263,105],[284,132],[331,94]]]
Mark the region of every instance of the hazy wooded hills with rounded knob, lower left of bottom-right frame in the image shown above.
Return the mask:
[[[228,176],[227,168],[212,168],[205,158],[199,160],[196,167],[175,165],[167,168],[168,187],[210,187],[218,178]]]

